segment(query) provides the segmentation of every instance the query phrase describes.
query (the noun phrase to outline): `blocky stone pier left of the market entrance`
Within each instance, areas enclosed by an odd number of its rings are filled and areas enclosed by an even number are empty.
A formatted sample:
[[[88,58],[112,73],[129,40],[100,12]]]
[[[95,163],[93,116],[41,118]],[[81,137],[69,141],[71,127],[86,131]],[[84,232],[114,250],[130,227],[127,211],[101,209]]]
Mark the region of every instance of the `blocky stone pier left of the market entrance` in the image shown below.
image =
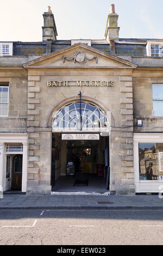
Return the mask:
[[[40,76],[28,76],[28,113],[27,113],[27,131],[28,131],[28,164],[27,164],[27,194],[49,194],[51,193],[50,179],[42,182],[40,168],[42,152],[47,157],[51,157],[51,151],[46,151],[46,145],[51,147],[51,128],[41,129],[39,121],[40,105],[40,87],[35,83],[40,81]],[[48,130],[48,131],[47,131]],[[45,133],[42,133],[45,132]],[[49,132],[48,136],[47,133]],[[46,137],[47,136],[47,137]],[[49,139],[48,139],[49,138]],[[44,142],[42,146],[42,141]],[[41,145],[41,150],[40,150]],[[44,147],[44,148],[43,148]],[[42,160],[43,162],[44,160]],[[50,160],[49,160],[50,161]],[[48,164],[49,164],[48,161]],[[46,171],[45,171],[46,172]],[[48,166],[48,173],[51,173],[51,167]],[[41,168],[42,174],[42,168]],[[49,174],[50,175],[50,174]]]

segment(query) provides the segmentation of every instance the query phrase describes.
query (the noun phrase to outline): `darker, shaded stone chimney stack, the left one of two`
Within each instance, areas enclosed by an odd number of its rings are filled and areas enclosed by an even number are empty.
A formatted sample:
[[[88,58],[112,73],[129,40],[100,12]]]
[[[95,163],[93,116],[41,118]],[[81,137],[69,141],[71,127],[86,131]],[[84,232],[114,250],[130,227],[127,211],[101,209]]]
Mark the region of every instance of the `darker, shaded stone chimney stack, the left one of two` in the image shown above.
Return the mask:
[[[44,25],[42,27],[42,41],[57,40],[57,28],[55,26],[54,15],[52,14],[51,7],[48,6],[46,13],[43,13]]]

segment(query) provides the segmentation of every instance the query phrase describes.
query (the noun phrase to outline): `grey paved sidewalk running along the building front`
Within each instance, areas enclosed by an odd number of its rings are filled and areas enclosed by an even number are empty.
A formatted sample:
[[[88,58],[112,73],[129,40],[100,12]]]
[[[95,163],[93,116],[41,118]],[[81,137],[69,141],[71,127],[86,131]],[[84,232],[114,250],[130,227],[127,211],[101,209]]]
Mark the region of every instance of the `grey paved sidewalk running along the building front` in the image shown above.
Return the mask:
[[[163,210],[159,196],[97,196],[57,194],[48,196],[7,194],[0,198],[2,209],[65,209],[65,210]]]

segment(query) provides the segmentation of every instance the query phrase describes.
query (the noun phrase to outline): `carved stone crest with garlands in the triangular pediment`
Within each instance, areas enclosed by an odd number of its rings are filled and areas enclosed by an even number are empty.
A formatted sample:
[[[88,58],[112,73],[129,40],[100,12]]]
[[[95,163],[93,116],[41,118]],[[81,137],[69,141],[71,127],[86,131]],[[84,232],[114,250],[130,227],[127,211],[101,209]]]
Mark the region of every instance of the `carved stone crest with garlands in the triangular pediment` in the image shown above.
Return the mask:
[[[92,59],[96,59],[96,63],[97,63],[97,56],[93,56],[92,58],[89,58],[86,56],[86,53],[83,51],[78,51],[74,53],[74,56],[68,58],[66,56],[62,57],[62,61],[63,63],[65,62],[65,59],[70,61],[73,59],[74,63],[78,62],[78,63],[82,63],[82,62],[86,62],[86,60],[92,60]]]

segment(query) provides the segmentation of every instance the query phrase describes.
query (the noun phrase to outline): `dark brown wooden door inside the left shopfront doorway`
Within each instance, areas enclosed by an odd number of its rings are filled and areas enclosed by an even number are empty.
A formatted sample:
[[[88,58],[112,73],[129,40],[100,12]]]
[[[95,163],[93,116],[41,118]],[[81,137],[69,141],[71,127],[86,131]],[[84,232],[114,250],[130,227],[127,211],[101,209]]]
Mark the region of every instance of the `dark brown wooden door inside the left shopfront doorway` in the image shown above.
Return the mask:
[[[12,189],[21,190],[22,188],[22,155],[15,155],[12,161]]]

